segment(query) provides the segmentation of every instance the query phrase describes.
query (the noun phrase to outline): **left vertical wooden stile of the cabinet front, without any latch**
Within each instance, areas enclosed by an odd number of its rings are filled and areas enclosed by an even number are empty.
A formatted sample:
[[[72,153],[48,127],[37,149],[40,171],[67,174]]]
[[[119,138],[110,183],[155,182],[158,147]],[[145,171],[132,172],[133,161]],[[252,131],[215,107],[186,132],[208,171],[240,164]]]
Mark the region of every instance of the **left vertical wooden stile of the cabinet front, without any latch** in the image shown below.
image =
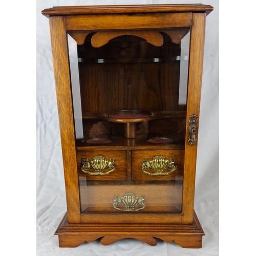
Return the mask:
[[[80,203],[67,35],[63,17],[50,17],[49,21],[66,186],[68,221],[69,223],[79,223]]]

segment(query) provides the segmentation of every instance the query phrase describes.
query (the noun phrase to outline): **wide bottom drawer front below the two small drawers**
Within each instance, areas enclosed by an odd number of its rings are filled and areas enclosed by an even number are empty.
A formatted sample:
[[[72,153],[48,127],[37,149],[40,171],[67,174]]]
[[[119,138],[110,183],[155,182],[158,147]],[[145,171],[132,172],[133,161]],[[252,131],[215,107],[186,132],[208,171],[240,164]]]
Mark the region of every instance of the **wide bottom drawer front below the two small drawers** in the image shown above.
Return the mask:
[[[136,211],[137,204],[134,206],[133,213],[158,212],[158,213],[180,213],[182,203],[182,184],[140,184],[140,185],[82,185],[81,193],[81,210],[83,213],[90,212],[110,212],[116,214],[125,214],[125,200],[123,204],[117,204],[116,208],[113,203],[115,196],[125,197],[125,194],[135,194],[135,197],[143,196],[143,209]],[[101,195],[101,196],[99,196]],[[133,200],[129,200],[131,203]],[[127,201],[128,202],[128,201]],[[135,202],[135,200],[134,200]],[[132,204],[132,203],[131,203]],[[118,209],[121,210],[118,210]]]

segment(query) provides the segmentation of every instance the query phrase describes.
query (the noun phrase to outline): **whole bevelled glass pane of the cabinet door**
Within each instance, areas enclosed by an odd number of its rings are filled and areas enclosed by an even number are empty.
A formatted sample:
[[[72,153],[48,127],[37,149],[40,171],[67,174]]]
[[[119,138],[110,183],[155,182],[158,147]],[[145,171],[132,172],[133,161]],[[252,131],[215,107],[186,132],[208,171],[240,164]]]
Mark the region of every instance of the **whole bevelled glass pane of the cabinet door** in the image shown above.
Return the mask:
[[[81,211],[181,212],[190,30],[68,42]]]

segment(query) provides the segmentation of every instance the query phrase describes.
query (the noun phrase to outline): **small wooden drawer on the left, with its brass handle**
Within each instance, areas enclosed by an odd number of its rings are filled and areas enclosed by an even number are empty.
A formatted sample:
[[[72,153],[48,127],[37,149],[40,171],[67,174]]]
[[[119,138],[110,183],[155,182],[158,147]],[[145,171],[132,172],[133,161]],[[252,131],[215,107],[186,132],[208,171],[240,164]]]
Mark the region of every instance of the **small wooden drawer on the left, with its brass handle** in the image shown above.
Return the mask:
[[[126,180],[126,151],[78,151],[80,179],[97,181]]]

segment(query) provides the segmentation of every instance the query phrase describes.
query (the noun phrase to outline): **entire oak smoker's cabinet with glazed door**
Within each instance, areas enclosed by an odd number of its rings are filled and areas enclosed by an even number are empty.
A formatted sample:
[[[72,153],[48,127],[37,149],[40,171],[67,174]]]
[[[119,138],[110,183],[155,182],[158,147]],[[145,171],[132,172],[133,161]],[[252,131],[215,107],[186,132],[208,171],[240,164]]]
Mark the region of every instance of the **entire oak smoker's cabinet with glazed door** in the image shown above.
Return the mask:
[[[60,247],[101,238],[200,248],[194,212],[211,6],[73,6],[49,17],[67,215]]]

